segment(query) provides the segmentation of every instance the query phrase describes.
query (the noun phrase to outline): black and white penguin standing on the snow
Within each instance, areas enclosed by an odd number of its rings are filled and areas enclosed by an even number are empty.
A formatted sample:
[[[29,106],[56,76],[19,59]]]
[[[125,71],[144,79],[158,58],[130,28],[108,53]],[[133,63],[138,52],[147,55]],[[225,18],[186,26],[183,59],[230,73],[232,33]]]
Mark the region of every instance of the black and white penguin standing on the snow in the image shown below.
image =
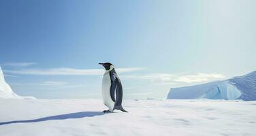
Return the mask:
[[[99,63],[99,65],[102,65],[106,69],[102,79],[101,95],[103,103],[108,107],[108,110],[104,110],[103,112],[113,112],[114,109],[127,112],[122,107],[123,87],[114,69],[114,65],[111,63]]]

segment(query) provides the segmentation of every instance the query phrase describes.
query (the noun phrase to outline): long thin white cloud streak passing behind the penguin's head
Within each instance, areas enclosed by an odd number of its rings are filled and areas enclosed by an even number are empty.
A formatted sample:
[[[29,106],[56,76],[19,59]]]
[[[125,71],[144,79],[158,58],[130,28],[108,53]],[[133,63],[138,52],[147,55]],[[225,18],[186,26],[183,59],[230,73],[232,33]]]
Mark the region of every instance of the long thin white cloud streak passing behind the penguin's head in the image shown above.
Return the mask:
[[[131,71],[140,71],[144,68],[121,68],[116,69],[118,73],[127,73]],[[5,70],[6,73],[25,74],[25,75],[103,75],[103,69],[72,69],[72,68],[54,68],[54,69],[19,69]]]

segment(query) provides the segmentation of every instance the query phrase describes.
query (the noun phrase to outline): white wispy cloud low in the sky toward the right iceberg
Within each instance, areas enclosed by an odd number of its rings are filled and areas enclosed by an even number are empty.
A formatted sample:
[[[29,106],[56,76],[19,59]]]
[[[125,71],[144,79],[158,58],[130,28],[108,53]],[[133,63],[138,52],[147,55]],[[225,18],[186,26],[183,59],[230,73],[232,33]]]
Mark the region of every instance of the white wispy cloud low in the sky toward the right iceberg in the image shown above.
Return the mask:
[[[148,75],[122,75],[123,79],[150,80],[156,84],[173,84],[174,82],[182,83],[199,83],[212,80],[221,80],[224,75],[218,73],[196,73],[193,75],[174,75],[169,73],[153,73]]]

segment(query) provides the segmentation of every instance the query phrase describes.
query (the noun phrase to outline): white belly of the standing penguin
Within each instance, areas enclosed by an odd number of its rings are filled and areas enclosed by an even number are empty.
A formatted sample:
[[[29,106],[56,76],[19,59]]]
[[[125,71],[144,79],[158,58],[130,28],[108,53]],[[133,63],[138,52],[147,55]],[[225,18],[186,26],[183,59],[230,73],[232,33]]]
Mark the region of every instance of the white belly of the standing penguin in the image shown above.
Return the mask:
[[[109,108],[110,112],[112,112],[114,108],[114,101],[112,101],[111,99],[110,86],[111,86],[110,73],[107,72],[107,73],[104,73],[103,75],[101,95],[102,95],[104,105],[106,105]]]

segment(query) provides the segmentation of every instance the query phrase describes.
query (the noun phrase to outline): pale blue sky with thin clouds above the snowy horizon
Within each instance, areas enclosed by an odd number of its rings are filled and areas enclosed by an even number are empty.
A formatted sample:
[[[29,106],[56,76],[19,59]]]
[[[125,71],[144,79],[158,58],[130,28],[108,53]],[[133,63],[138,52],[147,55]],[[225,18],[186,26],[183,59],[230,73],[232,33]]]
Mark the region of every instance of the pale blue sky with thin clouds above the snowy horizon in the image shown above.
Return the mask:
[[[0,64],[19,95],[100,98],[113,63],[125,99],[255,70],[255,1],[0,1]]]

